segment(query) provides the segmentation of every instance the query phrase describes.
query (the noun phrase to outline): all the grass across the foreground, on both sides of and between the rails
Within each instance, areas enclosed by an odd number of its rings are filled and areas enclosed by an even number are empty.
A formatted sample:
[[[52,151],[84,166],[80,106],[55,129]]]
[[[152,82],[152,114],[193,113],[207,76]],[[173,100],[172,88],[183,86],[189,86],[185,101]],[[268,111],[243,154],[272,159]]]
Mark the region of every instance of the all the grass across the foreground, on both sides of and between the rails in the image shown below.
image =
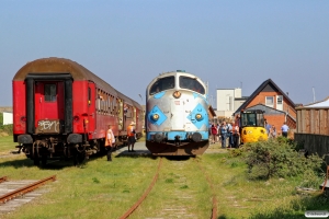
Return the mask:
[[[7,140],[0,138],[0,146]],[[302,177],[249,181],[246,164],[222,150],[223,153],[203,154],[196,159],[162,159],[154,189],[129,218],[209,218],[213,193],[217,197],[220,219],[300,218],[305,210],[328,210],[328,197],[296,192]],[[0,158],[0,175],[7,175],[9,180],[57,175],[56,182],[47,184],[49,193],[1,217],[120,218],[147,189],[158,163],[159,158],[114,154],[113,162],[98,157],[80,168],[61,162],[41,169],[24,155]],[[209,175],[214,191],[205,174]]]

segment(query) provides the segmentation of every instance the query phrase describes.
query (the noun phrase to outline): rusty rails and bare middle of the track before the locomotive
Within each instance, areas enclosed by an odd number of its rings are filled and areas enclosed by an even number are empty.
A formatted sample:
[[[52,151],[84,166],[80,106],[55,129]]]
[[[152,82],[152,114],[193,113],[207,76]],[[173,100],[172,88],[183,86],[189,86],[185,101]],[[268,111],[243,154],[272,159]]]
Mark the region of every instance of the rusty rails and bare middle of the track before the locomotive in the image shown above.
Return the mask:
[[[202,166],[202,164],[195,160],[196,159],[193,159],[193,163],[197,163],[196,165],[198,170],[205,173],[205,170]],[[186,164],[184,162],[185,161],[170,161],[170,163],[174,165],[174,170],[175,172],[178,172],[178,175],[180,173],[184,173],[184,169],[186,168]],[[157,183],[161,166],[162,166],[162,159],[159,160],[157,172],[155,173],[154,180],[150,183],[149,187],[145,191],[145,193],[140,196],[140,198],[121,217],[121,219],[128,218],[139,206],[143,205],[143,201],[146,199],[149,192],[154,188],[154,186]],[[209,218],[215,219],[217,218],[217,199],[214,193],[214,186],[208,175],[204,174],[204,176],[212,191],[212,208],[211,208],[212,210],[209,212]],[[195,189],[182,191],[181,188],[186,186],[185,185],[186,181],[188,178],[184,175],[181,175],[179,180],[177,180],[173,188],[168,191],[168,194],[170,194],[171,198],[168,200],[166,199],[161,200],[162,201],[162,206],[160,207],[161,209],[157,209],[154,211],[156,216],[147,217],[147,218],[198,218],[197,215],[192,212],[195,209],[192,209],[192,207],[190,206],[191,203],[194,203],[194,206],[196,206],[195,204],[195,201],[197,201],[196,194],[198,192]],[[172,201],[172,200],[178,200],[179,205],[177,205],[177,201]]]

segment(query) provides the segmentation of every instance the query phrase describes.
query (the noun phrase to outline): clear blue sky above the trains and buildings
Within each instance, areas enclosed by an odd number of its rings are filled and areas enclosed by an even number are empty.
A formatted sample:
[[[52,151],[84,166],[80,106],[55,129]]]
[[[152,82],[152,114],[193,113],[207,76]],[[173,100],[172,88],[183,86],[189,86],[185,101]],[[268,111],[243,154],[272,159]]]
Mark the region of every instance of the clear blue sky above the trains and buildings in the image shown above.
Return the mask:
[[[71,59],[144,104],[185,70],[249,96],[272,79],[294,103],[329,96],[328,0],[0,0],[0,106],[27,61]],[[140,96],[139,96],[140,94]]]

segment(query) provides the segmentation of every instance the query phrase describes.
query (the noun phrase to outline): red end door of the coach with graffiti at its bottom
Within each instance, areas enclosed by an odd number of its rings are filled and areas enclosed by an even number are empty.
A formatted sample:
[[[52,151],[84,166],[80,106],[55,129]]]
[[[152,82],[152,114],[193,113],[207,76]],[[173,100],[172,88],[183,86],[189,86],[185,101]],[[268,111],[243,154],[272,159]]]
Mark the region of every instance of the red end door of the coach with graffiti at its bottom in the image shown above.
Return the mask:
[[[37,134],[57,134],[63,131],[64,82],[35,82],[35,127]]]

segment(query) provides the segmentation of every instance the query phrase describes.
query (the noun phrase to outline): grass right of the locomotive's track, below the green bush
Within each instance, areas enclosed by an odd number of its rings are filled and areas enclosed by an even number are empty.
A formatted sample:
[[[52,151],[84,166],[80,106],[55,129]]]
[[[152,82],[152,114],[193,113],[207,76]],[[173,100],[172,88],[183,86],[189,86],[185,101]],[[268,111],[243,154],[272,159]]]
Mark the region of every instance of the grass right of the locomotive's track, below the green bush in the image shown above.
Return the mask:
[[[206,154],[202,162],[208,173],[218,173],[212,180],[219,218],[300,218],[305,210],[328,209],[328,197],[296,193],[302,178],[248,181],[246,164],[227,153]]]

